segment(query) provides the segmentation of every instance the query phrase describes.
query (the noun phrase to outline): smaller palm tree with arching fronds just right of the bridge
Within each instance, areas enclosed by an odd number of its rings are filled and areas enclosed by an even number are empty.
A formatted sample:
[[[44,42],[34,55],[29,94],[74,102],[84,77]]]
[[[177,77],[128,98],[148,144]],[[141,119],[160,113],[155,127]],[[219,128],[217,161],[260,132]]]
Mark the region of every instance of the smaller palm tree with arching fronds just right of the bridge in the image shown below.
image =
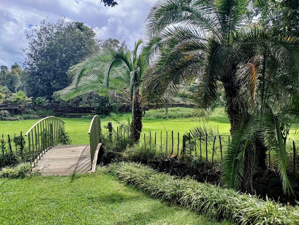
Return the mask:
[[[64,100],[95,91],[116,95],[132,105],[131,138],[140,139],[142,129],[141,78],[146,69],[142,54],[137,54],[141,40],[129,50],[102,49],[77,64],[72,84],[61,91]]]

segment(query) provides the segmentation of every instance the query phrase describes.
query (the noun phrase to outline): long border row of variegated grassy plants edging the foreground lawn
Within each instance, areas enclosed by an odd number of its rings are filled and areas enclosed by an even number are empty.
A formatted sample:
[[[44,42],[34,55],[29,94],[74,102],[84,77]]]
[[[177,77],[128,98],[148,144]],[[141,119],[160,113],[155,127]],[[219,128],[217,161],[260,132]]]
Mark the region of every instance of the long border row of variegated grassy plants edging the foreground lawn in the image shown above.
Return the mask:
[[[155,198],[203,213],[212,219],[234,221],[241,225],[299,224],[299,206],[283,206],[219,185],[199,183],[191,177],[180,179],[139,163],[110,164],[105,171],[115,173],[125,184],[133,184]]]

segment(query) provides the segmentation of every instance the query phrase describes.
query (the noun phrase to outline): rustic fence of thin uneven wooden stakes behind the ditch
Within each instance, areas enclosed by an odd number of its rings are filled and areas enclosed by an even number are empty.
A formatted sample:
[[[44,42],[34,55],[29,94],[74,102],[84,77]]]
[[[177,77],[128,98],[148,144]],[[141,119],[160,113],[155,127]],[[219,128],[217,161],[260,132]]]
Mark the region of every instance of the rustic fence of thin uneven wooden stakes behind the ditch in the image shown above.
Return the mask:
[[[110,126],[110,134],[112,134],[112,127]],[[128,129],[120,129],[117,127],[116,137],[118,139],[126,140],[129,138]],[[165,155],[185,156],[192,155],[201,158],[205,161],[220,161],[223,154],[228,150],[231,142],[230,135],[203,135],[199,138],[192,138],[191,134],[173,132],[173,131],[159,131],[159,132],[145,132],[141,135],[140,143],[155,147],[157,153]],[[287,169],[289,172],[299,170],[299,152],[297,150],[299,140],[286,140],[287,150]],[[267,167],[273,168],[275,158],[273,158],[272,151],[267,153]]]

